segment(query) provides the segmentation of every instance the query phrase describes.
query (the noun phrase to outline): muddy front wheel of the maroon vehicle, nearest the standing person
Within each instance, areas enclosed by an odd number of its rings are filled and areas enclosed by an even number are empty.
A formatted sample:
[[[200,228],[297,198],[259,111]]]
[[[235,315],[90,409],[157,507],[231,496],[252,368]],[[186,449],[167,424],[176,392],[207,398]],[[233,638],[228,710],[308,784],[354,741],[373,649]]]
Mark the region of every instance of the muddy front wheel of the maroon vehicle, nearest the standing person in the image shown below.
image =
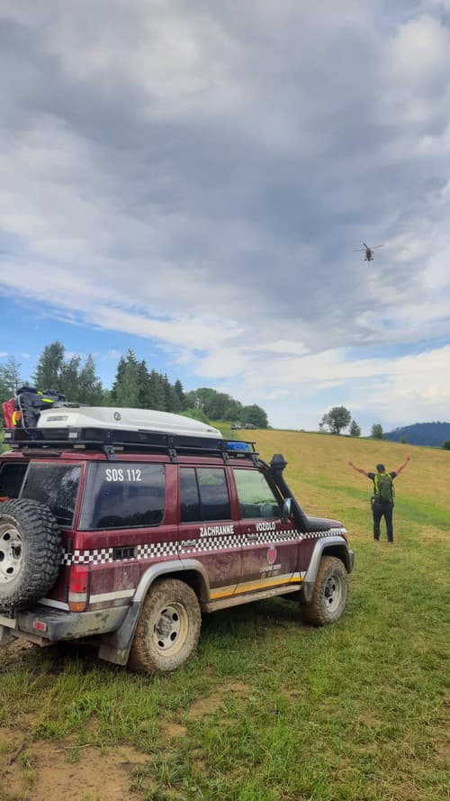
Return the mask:
[[[323,556],[312,592],[311,604],[302,603],[300,614],[305,623],[324,626],[336,623],[347,605],[347,570],[340,559]]]

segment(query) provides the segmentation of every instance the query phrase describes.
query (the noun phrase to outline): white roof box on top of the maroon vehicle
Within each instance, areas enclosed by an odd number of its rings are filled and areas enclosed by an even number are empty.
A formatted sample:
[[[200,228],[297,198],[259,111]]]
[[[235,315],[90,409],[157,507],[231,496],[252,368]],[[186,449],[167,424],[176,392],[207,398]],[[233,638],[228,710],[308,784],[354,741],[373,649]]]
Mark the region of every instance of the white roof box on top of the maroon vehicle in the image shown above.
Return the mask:
[[[184,417],[183,414],[110,406],[54,406],[52,409],[43,409],[37,427],[108,428],[116,431],[161,432],[223,439],[218,428],[193,420],[192,417]]]

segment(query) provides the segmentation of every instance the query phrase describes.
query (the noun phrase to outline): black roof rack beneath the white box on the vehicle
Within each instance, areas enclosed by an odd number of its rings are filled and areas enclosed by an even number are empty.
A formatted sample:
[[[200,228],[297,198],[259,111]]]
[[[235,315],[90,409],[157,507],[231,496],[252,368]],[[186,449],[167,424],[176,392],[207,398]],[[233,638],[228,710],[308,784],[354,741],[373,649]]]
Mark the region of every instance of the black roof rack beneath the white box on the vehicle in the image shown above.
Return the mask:
[[[28,452],[37,449],[67,451],[103,451],[109,460],[115,459],[115,449],[148,453],[167,453],[175,461],[181,454],[222,456],[256,460],[255,442],[189,436],[139,429],[108,428],[9,428],[4,430],[4,443],[13,450]]]

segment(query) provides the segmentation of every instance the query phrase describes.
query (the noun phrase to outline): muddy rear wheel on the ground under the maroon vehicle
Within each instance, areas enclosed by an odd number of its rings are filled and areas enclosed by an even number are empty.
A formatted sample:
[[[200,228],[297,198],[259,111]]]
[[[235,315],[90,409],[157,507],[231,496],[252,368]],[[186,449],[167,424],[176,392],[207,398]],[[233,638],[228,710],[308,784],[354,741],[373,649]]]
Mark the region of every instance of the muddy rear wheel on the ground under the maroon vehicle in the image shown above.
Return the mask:
[[[202,614],[192,587],[177,578],[156,581],[142,606],[128,665],[138,673],[170,673],[193,656]]]

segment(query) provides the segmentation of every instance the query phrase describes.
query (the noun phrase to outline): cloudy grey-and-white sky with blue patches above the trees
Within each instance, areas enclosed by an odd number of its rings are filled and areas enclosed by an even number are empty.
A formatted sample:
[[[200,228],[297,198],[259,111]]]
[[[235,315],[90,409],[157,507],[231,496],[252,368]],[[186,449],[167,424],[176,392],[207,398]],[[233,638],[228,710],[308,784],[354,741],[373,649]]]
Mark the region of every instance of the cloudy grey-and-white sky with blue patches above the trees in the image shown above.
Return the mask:
[[[0,363],[450,420],[450,0],[0,0],[0,53]]]

